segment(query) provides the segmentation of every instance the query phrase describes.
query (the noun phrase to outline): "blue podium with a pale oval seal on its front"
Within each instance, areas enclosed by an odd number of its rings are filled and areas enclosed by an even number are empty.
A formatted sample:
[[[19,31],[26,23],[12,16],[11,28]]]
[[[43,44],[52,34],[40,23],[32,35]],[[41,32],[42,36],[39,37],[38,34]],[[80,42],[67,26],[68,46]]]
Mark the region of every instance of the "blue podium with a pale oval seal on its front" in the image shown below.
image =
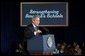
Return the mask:
[[[55,38],[54,35],[42,35],[34,36],[27,40],[27,50],[30,53],[40,52],[53,52],[55,50]]]

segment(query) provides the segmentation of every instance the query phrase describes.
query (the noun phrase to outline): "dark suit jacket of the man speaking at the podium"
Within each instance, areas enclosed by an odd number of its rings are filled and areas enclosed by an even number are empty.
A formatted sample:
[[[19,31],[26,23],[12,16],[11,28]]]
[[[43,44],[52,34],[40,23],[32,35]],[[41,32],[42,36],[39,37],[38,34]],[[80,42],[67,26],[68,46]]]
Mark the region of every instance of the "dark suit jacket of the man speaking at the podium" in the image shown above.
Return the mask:
[[[32,24],[29,24],[24,30],[24,36],[26,39],[31,39],[34,36],[34,27]]]

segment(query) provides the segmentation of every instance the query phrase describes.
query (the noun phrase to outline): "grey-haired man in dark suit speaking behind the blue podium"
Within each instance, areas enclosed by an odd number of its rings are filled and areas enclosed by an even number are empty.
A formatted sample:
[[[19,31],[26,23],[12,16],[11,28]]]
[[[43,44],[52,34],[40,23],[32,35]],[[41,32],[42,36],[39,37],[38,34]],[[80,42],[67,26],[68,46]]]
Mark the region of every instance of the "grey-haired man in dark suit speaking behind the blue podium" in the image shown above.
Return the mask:
[[[34,16],[32,18],[32,23],[29,24],[27,26],[27,28],[25,29],[25,38],[26,39],[31,39],[33,36],[42,33],[42,31],[38,29],[39,23],[40,23],[39,16]]]

